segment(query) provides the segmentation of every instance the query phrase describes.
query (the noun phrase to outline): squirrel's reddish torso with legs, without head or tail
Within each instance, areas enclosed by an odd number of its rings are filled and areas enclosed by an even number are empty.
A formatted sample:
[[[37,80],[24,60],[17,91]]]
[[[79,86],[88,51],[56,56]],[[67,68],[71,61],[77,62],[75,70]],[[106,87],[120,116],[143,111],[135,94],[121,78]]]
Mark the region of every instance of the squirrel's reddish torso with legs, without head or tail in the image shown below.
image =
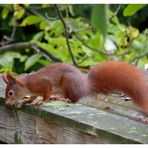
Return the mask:
[[[28,75],[27,82],[28,89],[32,93],[39,93],[45,100],[50,98],[52,86],[62,88],[64,97],[73,102],[86,94],[86,79],[77,68],[68,64],[58,63],[44,67]]]

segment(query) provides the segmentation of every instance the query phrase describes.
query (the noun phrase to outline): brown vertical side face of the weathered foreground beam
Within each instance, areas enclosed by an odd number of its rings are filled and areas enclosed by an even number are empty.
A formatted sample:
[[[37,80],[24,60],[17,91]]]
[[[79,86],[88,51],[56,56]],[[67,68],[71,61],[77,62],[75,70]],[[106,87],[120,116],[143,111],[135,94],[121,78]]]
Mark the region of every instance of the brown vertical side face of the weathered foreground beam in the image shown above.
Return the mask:
[[[11,109],[1,107],[2,113],[10,113]],[[14,112],[13,112],[14,113]],[[4,115],[6,115],[4,114]],[[11,114],[4,122],[0,122],[0,139],[7,143],[109,143],[96,136],[79,132],[59,123],[49,122],[43,118],[18,112],[17,118]],[[13,117],[13,118],[12,118]],[[6,117],[5,117],[6,118]],[[2,118],[0,118],[2,119]],[[16,120],[15,120],[16,119]],[[14,122],[12,122],[14,120]],[[0,120],[2,121],[2,120]],[[11,122],[10,122],[11,121]]]

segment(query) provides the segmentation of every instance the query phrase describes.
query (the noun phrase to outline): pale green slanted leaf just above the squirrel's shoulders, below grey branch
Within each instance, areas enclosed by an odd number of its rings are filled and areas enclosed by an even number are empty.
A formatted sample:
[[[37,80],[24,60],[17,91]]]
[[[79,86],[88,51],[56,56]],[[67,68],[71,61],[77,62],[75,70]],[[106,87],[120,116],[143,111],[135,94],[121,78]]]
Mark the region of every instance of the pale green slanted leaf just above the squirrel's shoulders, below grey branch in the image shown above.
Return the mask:
[[[25,63],[25,70],[28,70],[31,66],[33,66],[41,57],[42,55],[40,53],[36,53],[29,57]]]

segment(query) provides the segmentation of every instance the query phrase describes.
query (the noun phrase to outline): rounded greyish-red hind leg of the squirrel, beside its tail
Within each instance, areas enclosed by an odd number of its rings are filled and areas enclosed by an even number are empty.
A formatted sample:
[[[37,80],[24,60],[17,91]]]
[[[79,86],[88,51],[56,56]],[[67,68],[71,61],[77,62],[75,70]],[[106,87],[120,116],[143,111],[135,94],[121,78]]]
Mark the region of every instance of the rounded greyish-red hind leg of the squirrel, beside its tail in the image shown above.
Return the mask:
[[[82,79],[82,81],[81,81]],[[71,102],[76,103],[80,98],[85,96],[85,86],[83,86],[83,78],[75,77],[68,73],[62,77],[61,87],[64,91],[64,97]]]

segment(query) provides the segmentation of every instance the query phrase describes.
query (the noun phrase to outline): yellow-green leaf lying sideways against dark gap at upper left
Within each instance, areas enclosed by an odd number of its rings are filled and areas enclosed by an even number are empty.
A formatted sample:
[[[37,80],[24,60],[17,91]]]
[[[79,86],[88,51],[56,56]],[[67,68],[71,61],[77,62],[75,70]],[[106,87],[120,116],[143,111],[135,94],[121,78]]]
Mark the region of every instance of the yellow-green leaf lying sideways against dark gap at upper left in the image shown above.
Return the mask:
[[[38,24],[38,23],[41,23],[42,21],[44,21],[43,18],[40,18],[35,15],[30,15],[30,16],[27,16],[23,20],[23,22],[20,24],[20,26],[28,26],[28,25]]]

